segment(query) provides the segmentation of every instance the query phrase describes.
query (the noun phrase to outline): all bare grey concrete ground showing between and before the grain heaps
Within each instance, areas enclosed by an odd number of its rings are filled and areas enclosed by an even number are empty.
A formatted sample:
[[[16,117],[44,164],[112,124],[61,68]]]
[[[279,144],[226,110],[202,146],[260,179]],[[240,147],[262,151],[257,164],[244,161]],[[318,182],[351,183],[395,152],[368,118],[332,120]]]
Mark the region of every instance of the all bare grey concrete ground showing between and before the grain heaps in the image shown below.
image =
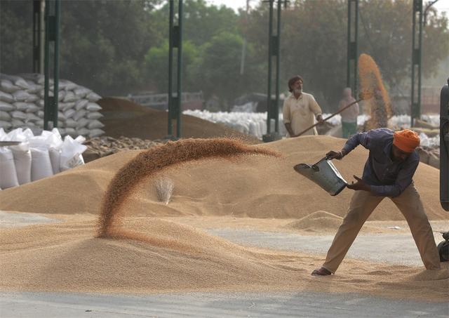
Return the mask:
[[[0,227],[58,222],[0,211]],[[238,244],[326,255],[333,235],[207,230]],[[435,233],[436,241],[441,234]],[[411,234],[361,234],[348,257],[422,266]],[[0,317],[449,317],[448,303],[393,300],[357,293],[93,293],[0,292]]]

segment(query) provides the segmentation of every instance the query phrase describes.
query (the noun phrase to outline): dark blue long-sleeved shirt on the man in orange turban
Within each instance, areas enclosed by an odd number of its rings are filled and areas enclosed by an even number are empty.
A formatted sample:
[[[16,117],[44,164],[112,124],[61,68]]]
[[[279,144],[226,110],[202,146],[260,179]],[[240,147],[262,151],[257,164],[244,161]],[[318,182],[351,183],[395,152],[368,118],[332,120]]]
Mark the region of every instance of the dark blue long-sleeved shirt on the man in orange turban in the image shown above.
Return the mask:
[[[413,175],[420,163],[416,151],[404,161],[391,160],[394,132],[378,128],[353,135],[343,149],[349,153],[358,145],[370,151],[362,180],[371,187],[371,192],[382,197],[397,197],[413,183]]]

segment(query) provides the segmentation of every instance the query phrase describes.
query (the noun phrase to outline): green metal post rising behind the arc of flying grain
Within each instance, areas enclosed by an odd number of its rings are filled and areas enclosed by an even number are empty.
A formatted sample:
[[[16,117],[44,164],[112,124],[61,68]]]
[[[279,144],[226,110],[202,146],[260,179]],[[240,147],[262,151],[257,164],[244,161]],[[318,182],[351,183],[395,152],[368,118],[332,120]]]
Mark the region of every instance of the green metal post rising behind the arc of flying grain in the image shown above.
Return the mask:
[[[182,125],[182,0],[178,0],[177,10],[177,25],[175,25],[175,2],[174,0],[170,0],[170,29],[168,39],[168,138],[174,138],[173,119],[176,119],[176,138],[181,138]],[[173,95],[173,48],[177,48],[176,95]]]

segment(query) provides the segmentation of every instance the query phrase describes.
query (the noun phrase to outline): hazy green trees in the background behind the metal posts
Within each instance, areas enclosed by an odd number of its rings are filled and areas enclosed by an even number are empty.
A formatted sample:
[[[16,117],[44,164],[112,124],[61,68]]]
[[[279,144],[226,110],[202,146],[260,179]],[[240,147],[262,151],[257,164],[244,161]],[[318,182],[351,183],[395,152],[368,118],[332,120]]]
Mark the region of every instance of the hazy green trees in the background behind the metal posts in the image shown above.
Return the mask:
[[[0,6],[0,72],[31,72],[32,4],[2,0]],[[61,12],[62,79],[100,95],[166,93],[168,1],[71,0],[62,1]],[[214,110],[229,110],[235,98],[266,91],[267,4],[251,1],[247,12],[236,12],[190,0],[184,12],[184,91],[203,92],[204,100],[216,101]],[[411,0],[360,3],[360,52],[380,66],[392,99],[407,103],[411,15]],[[281,88],[286,93],[288,78],[301,74],[304,90],[332,112],[346,83],[347,1],[290,1],[282,19]],[[447,77],[449,65],[448,17],[435,8],[427,15],[423,48],[424,99],[426,84]]]

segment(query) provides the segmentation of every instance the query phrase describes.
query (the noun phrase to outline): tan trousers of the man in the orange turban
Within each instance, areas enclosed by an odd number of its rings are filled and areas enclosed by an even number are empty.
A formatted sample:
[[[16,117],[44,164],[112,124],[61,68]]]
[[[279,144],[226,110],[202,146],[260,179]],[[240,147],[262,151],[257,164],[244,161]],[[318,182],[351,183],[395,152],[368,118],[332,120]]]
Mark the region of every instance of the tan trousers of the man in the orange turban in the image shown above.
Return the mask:
[[[326,262],[323,264],[326,270],[335,273],[352,242],[356,239],[363,223],[382,199],[384,197],[376,196],[367,191],[356,191],[354,193],[347,216],[344,217],[342,225],[335,234]],[[398,197],[390,199],[406,218],[424,266],[427,270],[438,270],[440,268],[440,256],[436,249],[434,234],[426,213],[424,213],[420,194],[418,194],[415,186],[413,184],[408,186]]]

